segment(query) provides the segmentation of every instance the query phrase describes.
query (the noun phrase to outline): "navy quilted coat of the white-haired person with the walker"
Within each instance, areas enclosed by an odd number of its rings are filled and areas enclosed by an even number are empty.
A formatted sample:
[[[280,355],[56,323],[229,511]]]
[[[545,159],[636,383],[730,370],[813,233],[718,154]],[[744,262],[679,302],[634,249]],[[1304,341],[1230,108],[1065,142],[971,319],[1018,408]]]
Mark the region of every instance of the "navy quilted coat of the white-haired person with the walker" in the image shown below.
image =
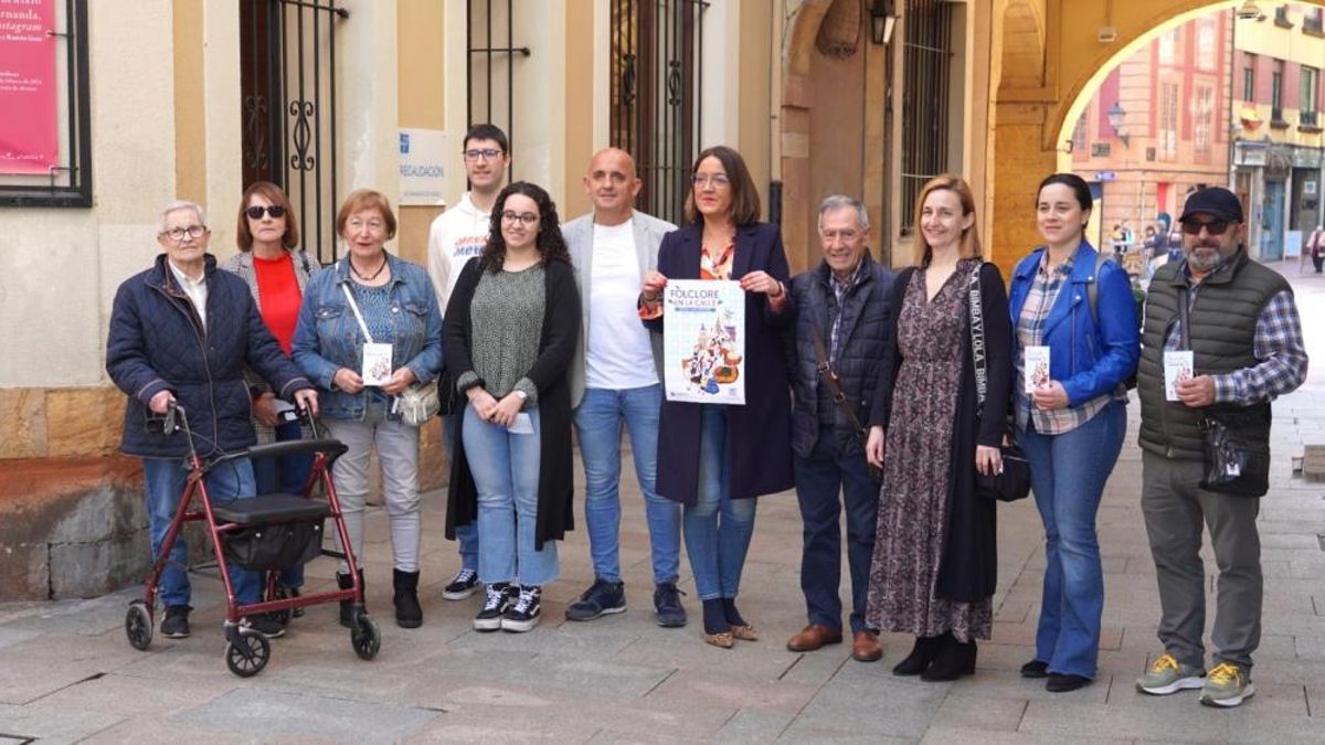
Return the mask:
[[[106,371],[129,394],[121,449],[140,457],[183,457],[183,432],[147,430],[147,403],[172,391],[188,415],[199,455],[233,452],[256,441],[249,366],[284,399],[311,388],[262,322],[248,284],[216,268],[207,256],[207,329],[166,266],[156,264],[125,280],[115,293],[106,339]]]

